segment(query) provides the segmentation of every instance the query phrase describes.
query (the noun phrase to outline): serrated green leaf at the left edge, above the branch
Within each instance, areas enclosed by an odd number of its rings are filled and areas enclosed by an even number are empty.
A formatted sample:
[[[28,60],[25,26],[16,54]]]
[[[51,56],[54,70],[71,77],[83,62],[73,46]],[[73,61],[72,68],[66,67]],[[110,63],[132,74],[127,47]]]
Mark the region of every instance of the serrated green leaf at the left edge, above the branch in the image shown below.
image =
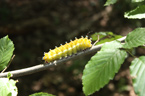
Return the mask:
[[[0,71],[3,70],[10,61],[14,51],[14,44],[5,36],[0,39]]]

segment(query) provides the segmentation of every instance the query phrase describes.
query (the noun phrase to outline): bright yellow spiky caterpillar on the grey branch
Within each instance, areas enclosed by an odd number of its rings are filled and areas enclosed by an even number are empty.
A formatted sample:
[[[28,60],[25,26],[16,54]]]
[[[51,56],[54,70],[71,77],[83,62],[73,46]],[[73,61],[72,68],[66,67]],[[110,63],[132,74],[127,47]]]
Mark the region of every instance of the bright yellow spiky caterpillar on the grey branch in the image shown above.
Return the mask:
[[[48,53],[44,52],[44,57],[42,59],[45,60],[46,63],[49,63],[63,57],[71,56],[72,54],[76,54],[78,51],[82,51],[90,47],[92,47],[91,39],[88,39],[87,36],[85,38],[76,38],[74,41],[70,41],[65,45],[56,47]]]

